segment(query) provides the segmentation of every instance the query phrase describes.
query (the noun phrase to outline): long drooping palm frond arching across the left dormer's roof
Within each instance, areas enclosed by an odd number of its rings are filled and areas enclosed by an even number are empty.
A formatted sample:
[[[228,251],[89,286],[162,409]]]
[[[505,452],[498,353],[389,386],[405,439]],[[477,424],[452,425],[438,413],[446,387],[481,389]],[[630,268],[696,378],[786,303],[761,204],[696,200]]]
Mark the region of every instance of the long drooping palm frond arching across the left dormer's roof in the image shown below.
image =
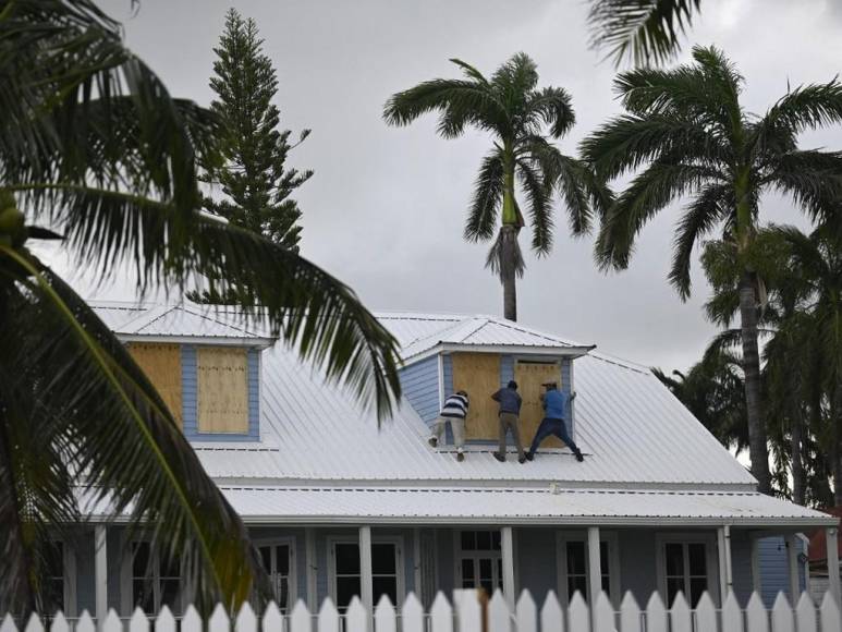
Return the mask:
[[[26,187],[25,191],[32,191]],[[102,278],[129,260],[138,289],[152,283],[184,289],[198,276],[217,280],[217,291],[243,300],[246,318],[267,326],[300,356],[342,380],[386,418],[400,393],[392,336],[343,283],[269,240],[193,211],[181,211],[114,191],[50,185],[39,204],[58,217],[80,265]],[[46,193],[44,193],[46,192]]]

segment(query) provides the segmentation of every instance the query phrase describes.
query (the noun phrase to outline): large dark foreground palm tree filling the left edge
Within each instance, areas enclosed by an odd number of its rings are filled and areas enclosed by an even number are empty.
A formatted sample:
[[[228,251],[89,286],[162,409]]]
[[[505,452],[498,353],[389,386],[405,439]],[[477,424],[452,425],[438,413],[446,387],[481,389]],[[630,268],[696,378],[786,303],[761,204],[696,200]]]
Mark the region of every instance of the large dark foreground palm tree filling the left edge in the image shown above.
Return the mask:
[[[178,554],[199,606],[242,603],[257,562],[242,522],[166,404],[86,303],[29,245],[60,240],[139,295],[200,276],[382,415],[395,343],[353,292],[243,229],[205,217],[196,162],[216,120],[170,97],[90,0],[0,3],[0,611],[42,608],[47,543],[93,505]]]

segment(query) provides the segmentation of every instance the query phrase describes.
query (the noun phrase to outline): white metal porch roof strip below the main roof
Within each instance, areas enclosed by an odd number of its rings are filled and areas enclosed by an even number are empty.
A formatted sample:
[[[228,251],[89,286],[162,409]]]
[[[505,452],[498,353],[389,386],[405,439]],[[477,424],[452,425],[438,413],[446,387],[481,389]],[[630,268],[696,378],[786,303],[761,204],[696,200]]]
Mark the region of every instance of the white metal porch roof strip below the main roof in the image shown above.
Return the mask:
[[[222,486],[248,524],[509,524],[803,528],[839,519],[755,491]]]

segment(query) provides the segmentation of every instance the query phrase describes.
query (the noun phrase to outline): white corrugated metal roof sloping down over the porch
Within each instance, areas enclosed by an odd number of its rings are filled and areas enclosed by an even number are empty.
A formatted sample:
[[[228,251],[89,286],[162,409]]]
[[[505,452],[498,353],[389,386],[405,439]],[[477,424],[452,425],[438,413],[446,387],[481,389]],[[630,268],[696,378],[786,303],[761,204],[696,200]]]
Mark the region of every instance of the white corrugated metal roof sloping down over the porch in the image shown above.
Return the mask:
[[[118,331],[135,331],[132,323],[152,318],[130,306],[97,311]],[[443,339],[575,344],[484,316],[388,313],[379,318],[404,353]],[[229,331],[215,329],[215,321],[179,320],[199,328],[179,335]],[[152,327],[146,323],[144,331]],[[630,524],[647,516],[687,524],[816,524],[820,519],[755,494],[756,482],[745,467],[648,369],[598,353],[579,357],[574,368],[576,440],[586,453],[584,463],[568,451],[540,452],[523,465],[512,454],[499,463],[490,446],[472,448],[459,463],[452,452],[427,445],[428,429],[408,402],[378,427],[373,411],[283,345],[261,354],[260,441],[194,448],[234,507],[253,520],[574,523],[601,515]],[[565,491],[550,494],[551,485]]]

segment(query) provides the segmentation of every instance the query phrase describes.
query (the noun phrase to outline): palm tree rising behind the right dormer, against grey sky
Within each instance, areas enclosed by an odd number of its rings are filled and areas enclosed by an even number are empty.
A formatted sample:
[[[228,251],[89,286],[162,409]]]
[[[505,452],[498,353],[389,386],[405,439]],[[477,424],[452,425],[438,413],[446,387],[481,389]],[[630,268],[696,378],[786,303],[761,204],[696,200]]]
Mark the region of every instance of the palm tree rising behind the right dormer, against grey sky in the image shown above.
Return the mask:
[[[538,89],[535,62],[524,53],[513,56],[490,78],[474,66],[451,59],[464,78],[437,78],[393,95],[383,119],[407,125],[422,114],[440,113],[438,133],[456,138],[466,127],[490,133],[495,146],[483,159],[465,224],[465,239],[490,240],[497,218],[501,226],[486,266],[503,284],[503,314],[517,319],[516,277],[525,264],[517,235],[525,220],[517,203],[520,182],[528,204],[533,250],[538,255],[552,247],[552,193],[564,200],[573,234],[588,232],[591,208],[602,209],[609,193],[585,166],[563,155],[550,142],[566,134],[575,122],[570,95],[563,88]]]

